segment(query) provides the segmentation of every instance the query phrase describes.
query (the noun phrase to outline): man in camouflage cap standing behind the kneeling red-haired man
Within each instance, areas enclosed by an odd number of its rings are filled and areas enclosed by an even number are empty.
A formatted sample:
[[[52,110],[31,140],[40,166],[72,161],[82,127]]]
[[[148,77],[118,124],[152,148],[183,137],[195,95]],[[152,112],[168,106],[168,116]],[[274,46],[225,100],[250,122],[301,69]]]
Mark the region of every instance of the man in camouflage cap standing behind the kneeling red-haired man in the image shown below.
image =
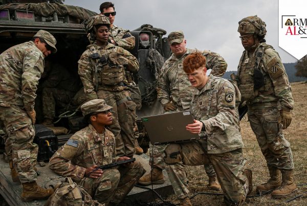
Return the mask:
[[[166,112],[189,110],[190,102],[194,88],[186,78],[183,71],[182,62],[185,57],[195,50],[186,48],[186,39],[182,31],[174,31],[168,35],[168,43],[173,53],[165,61],[162,72],[158,79],[158,100],[164,106]],[[211,74],[214,76],[223,76],[227,69],[227,63],[220,55],[205,50],[203,55],[207,58],[206,66],[211,68]],[[163,162],[163,151],[166,145],[153,147],[153,153],[150,153],[149,165],[152,167],[152,173],[140,178],[140,184],[163,184],[164,178],[162,170],[165,168]],[[152,149],[150,149],[150,152]],[[213,190],[221,188],[216,181],[216,175],[212,165],[205,164],[205,170],[209,177],[208,187]]]

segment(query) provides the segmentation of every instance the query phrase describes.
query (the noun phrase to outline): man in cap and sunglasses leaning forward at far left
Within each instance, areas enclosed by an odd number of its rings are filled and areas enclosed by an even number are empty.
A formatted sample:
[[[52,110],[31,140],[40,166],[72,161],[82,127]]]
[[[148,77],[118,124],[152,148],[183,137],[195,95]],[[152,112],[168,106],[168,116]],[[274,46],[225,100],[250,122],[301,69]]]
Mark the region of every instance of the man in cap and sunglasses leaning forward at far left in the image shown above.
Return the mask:
[[[15,45],[0,55],[0,125],[9,138],[9,161],[14,181],[20,180],[21,199],[43,199],[53,189],[36,183],[38,146],[33,143],[35,131],[34,100],[43,59],[55,53],[56,40],[47,31],[39,30],[31,41]],[[19,178],[18,178],[19,177]]]

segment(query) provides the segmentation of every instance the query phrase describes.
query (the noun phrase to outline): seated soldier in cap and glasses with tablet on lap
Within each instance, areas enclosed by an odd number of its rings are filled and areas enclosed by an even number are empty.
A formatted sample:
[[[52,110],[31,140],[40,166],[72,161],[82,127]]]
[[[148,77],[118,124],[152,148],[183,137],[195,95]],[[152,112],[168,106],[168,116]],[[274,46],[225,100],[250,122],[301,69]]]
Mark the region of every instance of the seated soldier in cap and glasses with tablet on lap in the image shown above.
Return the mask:
[[[98,166],[129,159],[116,156],[114,134],[105,128],[112,125],[112,106],[103,99],[84,103],[81,111],[89,126],[76,132],[54,155],[49,168],[71,177],[101,204],[118,204],[134,187],[144,169],[139,162],[98,169]]]

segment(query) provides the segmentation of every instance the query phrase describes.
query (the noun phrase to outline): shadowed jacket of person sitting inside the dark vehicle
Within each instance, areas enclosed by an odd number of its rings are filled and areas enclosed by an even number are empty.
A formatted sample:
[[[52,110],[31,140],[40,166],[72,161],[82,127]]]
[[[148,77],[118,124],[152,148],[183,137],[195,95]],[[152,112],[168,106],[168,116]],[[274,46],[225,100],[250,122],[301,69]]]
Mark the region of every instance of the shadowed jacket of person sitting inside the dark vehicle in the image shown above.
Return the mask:
[[[75,75],[76,76],[76,75]],[[42,82],[42,87],[65,89],[72,92],[77,92],[80,88],[79,78],[70,74],[68,70],[60,64],[53,64],[45,81]]]

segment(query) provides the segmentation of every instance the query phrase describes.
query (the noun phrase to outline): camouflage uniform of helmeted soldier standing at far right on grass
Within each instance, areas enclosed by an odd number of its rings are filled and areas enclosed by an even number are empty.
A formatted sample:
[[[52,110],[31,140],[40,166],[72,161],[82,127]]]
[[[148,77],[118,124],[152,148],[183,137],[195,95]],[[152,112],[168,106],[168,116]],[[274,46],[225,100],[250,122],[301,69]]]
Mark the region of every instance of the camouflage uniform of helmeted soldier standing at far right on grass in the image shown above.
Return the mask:
[[[264,85],[254,90],[256,55],[264,51],[258,70]],[[294,168],[290,143],[284,139],[279,123],[281,109],[293,109],[294,101],[286,71],[278,53],[268,44],[260,43],[253,54],[243,52],[238,66],[239,89],[242,101],[247,101],[248,119],[256,135],[268,167],[279,170]]]

